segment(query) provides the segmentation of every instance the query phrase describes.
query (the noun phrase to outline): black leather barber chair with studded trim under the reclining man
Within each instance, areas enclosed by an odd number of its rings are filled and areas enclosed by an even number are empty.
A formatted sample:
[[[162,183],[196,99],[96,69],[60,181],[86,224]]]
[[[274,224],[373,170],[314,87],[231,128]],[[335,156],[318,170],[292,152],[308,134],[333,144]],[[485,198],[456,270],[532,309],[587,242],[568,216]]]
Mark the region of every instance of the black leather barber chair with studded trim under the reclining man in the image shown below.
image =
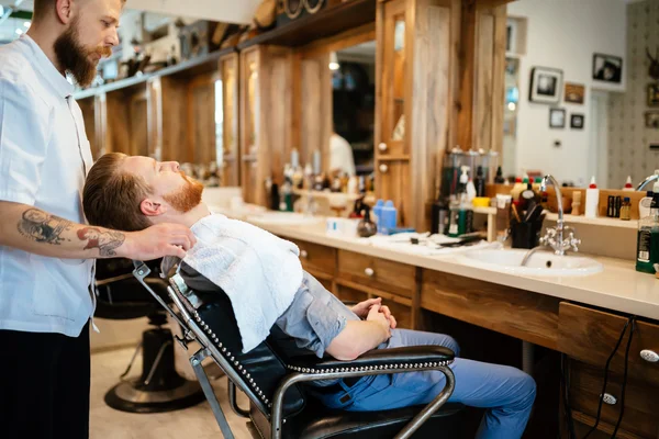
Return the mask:
[[[143,281],[149,268],[137,261],[135,266],[134,274]],[[449,349],[437,346],[380,349],[354,361],[319,360],[315,356],[294,354],[294,341],[275,326],[267,340],[242,353],[236,319],[222,290],[186,263],[178,267],[169,283],[168,293],[176,307],[164,301],[161,305],[181,325],[183,338],[178,341],[186,348],[190,341],[201,345],[190,362],[224,438],[234,436],[201,368],[201,361],[208,357],[227,375],[231,407],[249,419],[247,426],[254,438],[459,437],[463,407],[446,403],[455,389],[454,374],[448,368],[454,353]],[[153,291],[148,283],[143,285]],[[308,395],[304,386],[305,382],[316,380],[425,370],[443,372],[447,383],[427,406],[369,413],[333,410]],[[236,387],[249,398],[248,410],[238,407]]]

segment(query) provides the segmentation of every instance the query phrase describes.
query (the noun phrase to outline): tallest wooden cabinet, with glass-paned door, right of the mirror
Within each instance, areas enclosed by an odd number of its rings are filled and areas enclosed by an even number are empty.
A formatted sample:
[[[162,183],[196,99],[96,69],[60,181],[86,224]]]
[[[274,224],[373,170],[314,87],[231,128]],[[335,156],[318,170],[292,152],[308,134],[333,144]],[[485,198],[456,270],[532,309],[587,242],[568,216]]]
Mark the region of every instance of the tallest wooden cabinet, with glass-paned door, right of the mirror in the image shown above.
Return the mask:
[[[378,3],[376,194],[399,224],[429,229],[438,160],[451,135],[459,0]]]

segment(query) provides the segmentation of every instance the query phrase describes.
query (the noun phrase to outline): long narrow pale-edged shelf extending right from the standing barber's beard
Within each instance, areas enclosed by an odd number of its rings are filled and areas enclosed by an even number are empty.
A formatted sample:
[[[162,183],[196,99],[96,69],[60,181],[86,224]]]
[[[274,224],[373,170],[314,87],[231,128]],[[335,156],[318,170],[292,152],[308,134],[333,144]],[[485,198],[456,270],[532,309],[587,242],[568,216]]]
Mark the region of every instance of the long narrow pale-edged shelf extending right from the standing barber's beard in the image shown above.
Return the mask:
[[[166,67],[164,69],[154,71],[152,74],[145,74],[138,77],[131,77],[120,79],[119,81],[110,82],[103,86],[93,87],[86,90],[80,90],[74,93],[74,99],[85,99],[90,98],[100,93],[107,93],[110,91],[121,90],[129,87],[136,86],[142,82],[146,82],[152,78],[158,78],[170,75],[179,75],[179,76],[192,76],[202,74],[205,71],[210,71],[212,69],[217,68],[217,60],[220,57],[231,54],[235,50],[235,47],[227,47],[222,50],[216,50],[205,56],[200,56],[194,59],[189,59],[187,61],[179,63],[171,67]]]

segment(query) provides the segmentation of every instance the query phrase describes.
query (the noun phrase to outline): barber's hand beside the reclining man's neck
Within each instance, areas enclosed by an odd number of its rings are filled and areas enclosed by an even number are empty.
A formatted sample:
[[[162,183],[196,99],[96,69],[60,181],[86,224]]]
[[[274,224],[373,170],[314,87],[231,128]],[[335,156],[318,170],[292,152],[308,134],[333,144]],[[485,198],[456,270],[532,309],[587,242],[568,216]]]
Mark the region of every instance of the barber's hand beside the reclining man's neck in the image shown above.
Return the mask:
[[[180,224],[157,224],[141,232],[127,233],[126,240],[120,248],[123,250],[120,256],[143,261],[165,256],[182,259],[194,244],[197,238],[188,227]]]

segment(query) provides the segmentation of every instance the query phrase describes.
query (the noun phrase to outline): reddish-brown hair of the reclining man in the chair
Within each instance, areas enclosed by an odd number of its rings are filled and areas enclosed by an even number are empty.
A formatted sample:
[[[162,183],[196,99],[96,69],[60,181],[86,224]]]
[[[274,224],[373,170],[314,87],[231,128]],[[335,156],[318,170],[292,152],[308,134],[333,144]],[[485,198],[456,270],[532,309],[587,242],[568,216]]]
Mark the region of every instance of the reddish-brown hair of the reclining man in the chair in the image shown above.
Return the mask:
[[[82,191],[82,209],[89,224],[136,232],[152,225],[139,203],[152,193],[146,181],[120,170],[126,155],[105,154],[89,170]]]

